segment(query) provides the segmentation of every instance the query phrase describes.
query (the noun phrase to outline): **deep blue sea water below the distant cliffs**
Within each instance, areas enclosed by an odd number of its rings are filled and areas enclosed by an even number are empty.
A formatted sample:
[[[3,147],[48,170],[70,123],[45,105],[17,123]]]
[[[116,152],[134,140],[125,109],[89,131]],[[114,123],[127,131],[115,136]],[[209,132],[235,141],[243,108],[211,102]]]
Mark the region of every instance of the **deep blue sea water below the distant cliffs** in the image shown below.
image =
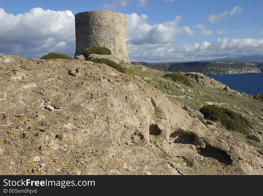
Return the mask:
[[[253,95],[255,93],[263,94],[263,74],[238,74],[208,77],[240,93],[244,92],[248,95]]]

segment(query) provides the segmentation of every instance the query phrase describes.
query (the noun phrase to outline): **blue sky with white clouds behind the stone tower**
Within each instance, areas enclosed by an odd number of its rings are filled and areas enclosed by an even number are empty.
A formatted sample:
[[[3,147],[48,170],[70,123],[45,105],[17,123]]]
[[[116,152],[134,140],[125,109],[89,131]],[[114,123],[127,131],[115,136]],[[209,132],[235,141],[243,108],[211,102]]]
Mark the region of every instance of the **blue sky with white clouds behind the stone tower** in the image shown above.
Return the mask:
[[[262,0],[0,0],[0,53],[24,58],[48,52],[73,56],[74,15],[111,10],[127,16],[131,61],[263,55],[262,7]]]

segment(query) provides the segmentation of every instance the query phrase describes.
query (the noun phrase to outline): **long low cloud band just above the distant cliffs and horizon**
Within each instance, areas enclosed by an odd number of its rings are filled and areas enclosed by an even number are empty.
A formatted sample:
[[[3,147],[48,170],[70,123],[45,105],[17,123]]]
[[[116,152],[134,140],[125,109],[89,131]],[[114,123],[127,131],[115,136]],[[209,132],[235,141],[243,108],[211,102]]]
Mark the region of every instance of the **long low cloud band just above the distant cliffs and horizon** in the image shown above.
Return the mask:
[[[138,51],[139,52],[138,52]],[[169,62],[200,61],[214,58],[237,57],[242,55],[263,54],[263,39],[218,38],[213,43],[204,41],[193,45],[156,46],[143,44],[140,48],[130,46],[131,61]]]

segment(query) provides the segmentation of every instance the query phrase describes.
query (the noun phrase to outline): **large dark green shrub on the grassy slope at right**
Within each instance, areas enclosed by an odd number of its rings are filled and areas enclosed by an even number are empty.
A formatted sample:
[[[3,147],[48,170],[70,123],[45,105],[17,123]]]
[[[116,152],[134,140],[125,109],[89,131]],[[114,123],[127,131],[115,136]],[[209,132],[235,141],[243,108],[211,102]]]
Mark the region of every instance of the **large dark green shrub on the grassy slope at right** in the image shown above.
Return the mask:
[[[212,120],[214,122],[220,121],[229,131],[240,132],[246,135],[249,134],[249,128],[247,126],[249,121],[228,108],[207,105],[202,107],[200,112],[204,114],[204,118],[207,120]]]

